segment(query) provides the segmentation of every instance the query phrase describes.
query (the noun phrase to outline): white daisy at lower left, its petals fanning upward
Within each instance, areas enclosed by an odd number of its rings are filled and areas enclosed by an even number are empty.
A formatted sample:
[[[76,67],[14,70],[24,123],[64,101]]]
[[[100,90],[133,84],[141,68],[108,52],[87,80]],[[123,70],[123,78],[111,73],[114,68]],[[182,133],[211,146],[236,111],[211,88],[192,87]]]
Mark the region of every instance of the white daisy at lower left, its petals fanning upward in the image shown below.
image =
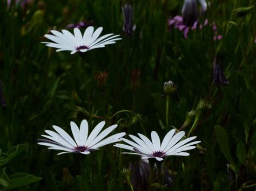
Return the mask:
[[[56,132],[45,130],[48,135],[42,135],[43,137],[50,140],[38,139],[38,144],[49,146],[49,149],[64,151],[58,154],[71,152],[90,154],[91,151],[98,150],[99,147],[110,143],[119,142],[121,140],[120,138],[125,136],[126,134],[125,132],[121,132],[105,138],[107,135],[109,135],[109,133],[117,128],[117,125],[111,125],[109,128],[99,133],[104,125],[104,121],[100,122],[98,125],[96,125],[96,127],[92,130],[91,134],[88,136],[88,123],[85,119],[80,124],[80,130],[78,129],[76,123],[70,122],[71,131],[75,140],[72,139],[69,134],[66,133],[62,128],[53,125],[52,127],[53,129],[55,129]]]

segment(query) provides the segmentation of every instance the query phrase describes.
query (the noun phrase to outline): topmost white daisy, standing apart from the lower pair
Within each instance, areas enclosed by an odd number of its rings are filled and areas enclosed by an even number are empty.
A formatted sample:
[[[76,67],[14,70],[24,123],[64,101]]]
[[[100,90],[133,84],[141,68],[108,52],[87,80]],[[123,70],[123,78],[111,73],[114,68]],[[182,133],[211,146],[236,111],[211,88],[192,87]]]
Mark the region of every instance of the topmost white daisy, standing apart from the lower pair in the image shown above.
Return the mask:
[[[56,52],[59,51],[71,51],[71,54],[76,52],[86,52],[95,48],[103,48],[105,45],[114,44],[116,40],[121,40],[122,38],[116,38],[118,35],[105,34],[99,37],[103,30],[103,27],[99,27],[95,32],[93,32],[93,26],[87,27],[82,36],[81,31],[78,28],[74,29],[74,35],[67,31],[62,30],[62,32],[51,30],[51,34],[45,34],[45,37],[52,40],[54,43],[43,42],[46,46],[58,48]],[[99,38],[98,38],[99,37]]]

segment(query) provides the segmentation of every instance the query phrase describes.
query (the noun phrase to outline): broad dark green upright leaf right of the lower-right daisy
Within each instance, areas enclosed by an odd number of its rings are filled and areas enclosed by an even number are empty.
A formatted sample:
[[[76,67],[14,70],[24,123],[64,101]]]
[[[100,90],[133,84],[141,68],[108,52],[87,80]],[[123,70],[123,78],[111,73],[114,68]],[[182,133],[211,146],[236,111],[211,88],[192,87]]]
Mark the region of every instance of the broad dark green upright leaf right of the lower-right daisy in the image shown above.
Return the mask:
[[[224,157],[231,163],[234,164],[230,153],[230,144],[228,144],[228,135],[226,130],[220,125],[215,125],[215,135],[217,142],[220,146],[220,151],[224,154]]]

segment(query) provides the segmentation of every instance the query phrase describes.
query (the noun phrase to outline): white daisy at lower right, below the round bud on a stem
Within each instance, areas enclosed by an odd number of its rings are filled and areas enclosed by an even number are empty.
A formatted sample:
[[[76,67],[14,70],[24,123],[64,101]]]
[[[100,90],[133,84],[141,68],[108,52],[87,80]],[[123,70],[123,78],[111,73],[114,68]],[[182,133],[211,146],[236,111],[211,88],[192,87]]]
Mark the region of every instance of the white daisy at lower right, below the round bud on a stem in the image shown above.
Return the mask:
[[[138,154],[138,155],[141,155],[142,159],[156,158],[158,161],[164,160],[164,157],[167,157],[169,155],[180,155],[180,156],[190,155],[189,153],[183,152],[183,151],[188,151],[193,148],[196,148],[196,146],[192,146],[192,145],[196,145],[200,143],[200,141],[188,143],[191,140],[196,139],[197,137],[190,137],[180,141],[180,139],[183,138],[183,136],[185,135],[185,132],[180,131],[176,135],[174,135],[175,131],[176,131],[175,129],[172,129],[171,131],[169,131],[164,137],[164,140],[162,143],[160,143],[160,138],[157,132],[152,131],[151,132],[152,142],[149,138],[138,133],[140,138],[133,135],[129,135],[134,140],[135,143],[132,142],[131,140],[121,138],[125,143],[129,145],[117,143],[114,146],[125,148],[127,150],[135,152],[135,153],[124,152],[125,154]]]

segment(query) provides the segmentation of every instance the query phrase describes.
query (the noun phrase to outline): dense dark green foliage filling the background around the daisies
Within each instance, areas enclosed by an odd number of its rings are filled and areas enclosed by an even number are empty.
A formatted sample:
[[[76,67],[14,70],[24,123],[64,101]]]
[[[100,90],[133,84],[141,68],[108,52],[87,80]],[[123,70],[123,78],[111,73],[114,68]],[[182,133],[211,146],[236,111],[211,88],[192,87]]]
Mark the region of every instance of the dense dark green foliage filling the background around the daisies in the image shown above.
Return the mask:
[[[201,143],[189,157],[165,160],[172,179],[167,189],[255,190],[255,2],[207,1],[202,27],[190,29],[187,39],[167,22],[181,14],[183,1],[129,1],[136,24],[132,38],[123,32],[125,3],[34,0],[23,7],[0,1],[0,189],[130,190],[122,169],[137,161],[136,155],[107,145],[83,156],[81,175],[76,154],[56,155],[37,145],[52,125],[71,133],[70,121],[87,119],[90,127],[103,120],[118,124],[115,133],[127,135],[150,137],[154,130],[163,138],[172,127],[197,136]],[[82,21],[122,40],[83,56],[41,43],[50,30]],[[220,34],[223,38],[214,40]],[[216,57],[227,86],[212,83]],[[99,71],[108,73],[104,87],[95,78]],[[163,86],[170,80],[178,89],[167,112]],[[198,112],[200,100],[211,107]],[[66,181],[63,168],[72,181]],[[156,182],[147,188],[166,189]]]

